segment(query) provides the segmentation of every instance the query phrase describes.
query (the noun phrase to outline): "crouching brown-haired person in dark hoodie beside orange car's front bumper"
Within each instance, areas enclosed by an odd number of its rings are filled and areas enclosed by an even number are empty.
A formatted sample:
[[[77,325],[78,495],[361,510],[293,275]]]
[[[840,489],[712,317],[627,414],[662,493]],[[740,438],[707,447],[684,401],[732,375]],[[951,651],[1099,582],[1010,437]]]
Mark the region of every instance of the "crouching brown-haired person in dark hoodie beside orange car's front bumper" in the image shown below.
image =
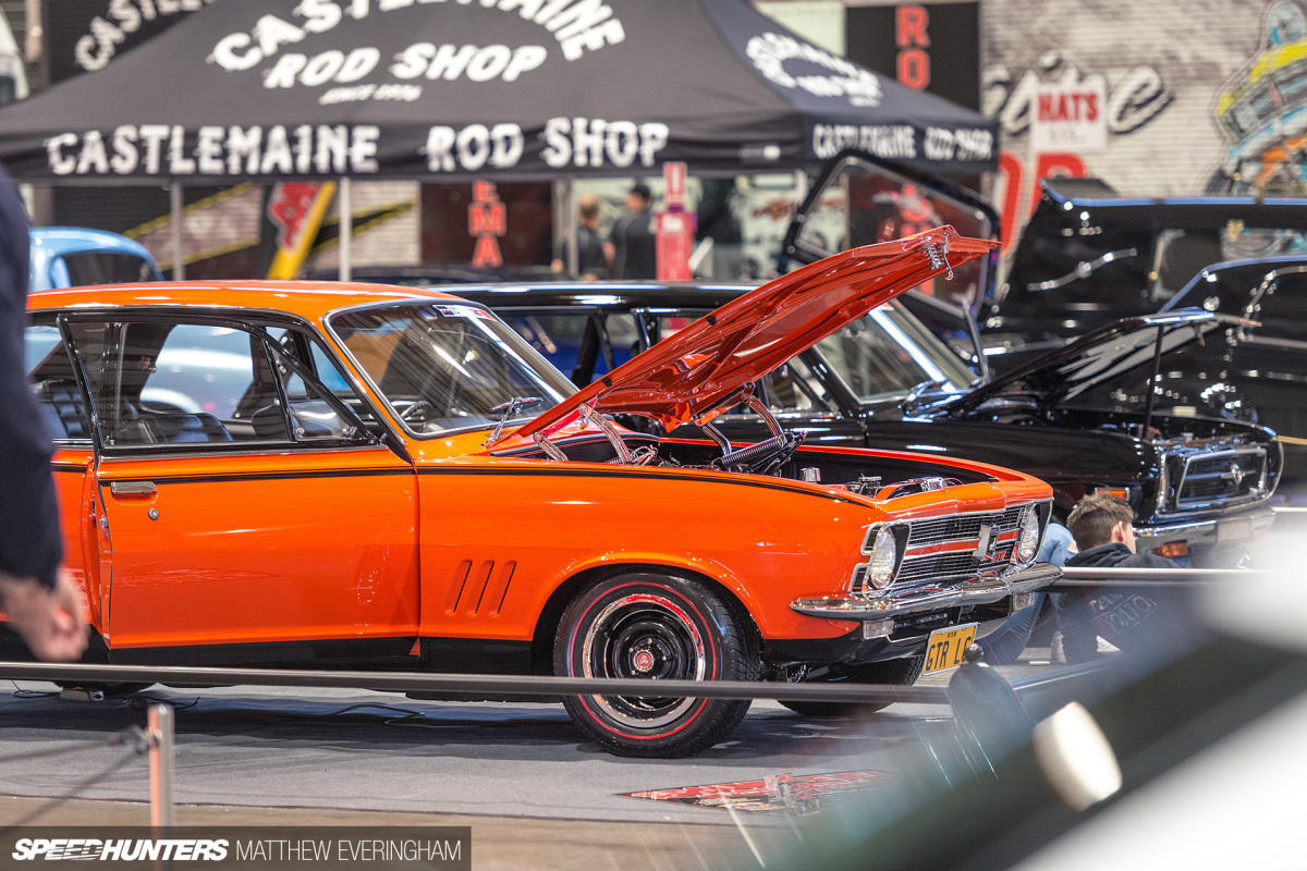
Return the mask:
[[[1067,560],[1067,568],[1179,568],[1179,564],[1153,551],[1136,551],[1134,509],[1124,499],[1098,492],[1085,496],[1067,518],[1080,552]],[[1080,663],[1099,656],[1098,636],[1117,648],[1134,646],[1145,632],[1158,632],[1166,618],[1155,619],[1159,597],[1137,590],[1123,593],[1076,590],[1063,593],[1057,601],[1057,624],[1068,663]],[[1176,615],[1172,614],[1174,619]]]

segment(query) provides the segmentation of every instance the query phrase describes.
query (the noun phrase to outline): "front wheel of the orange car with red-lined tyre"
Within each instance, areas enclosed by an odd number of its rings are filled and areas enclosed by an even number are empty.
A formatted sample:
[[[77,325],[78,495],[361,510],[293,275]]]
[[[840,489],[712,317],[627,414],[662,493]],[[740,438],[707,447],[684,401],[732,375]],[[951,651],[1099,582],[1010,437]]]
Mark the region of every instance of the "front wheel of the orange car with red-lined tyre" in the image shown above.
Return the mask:
[[[554,671],[570,678],[757,680],[759,645],[744,610],[706,584],[633,573],[583,590],[554,637]],[[748,700],[569,696],[572,721],[617,756],[677,757],[723,740]]]

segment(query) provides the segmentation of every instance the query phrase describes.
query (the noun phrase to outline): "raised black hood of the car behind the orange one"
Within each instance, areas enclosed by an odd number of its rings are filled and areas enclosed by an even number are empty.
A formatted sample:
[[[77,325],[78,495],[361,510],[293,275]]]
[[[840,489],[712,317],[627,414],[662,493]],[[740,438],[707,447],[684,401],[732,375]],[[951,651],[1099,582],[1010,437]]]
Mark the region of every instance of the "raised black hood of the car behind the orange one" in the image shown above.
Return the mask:
[[[966,413],[987,400],[1014,396],[1042,406],[1073,402],[1108,379],[1151,367],[1159,333],[1165,358],[1218,328],[1233,325],[1252,325],[1252,321],[1201,308],[1127,317],[936,406],[936,411]]]

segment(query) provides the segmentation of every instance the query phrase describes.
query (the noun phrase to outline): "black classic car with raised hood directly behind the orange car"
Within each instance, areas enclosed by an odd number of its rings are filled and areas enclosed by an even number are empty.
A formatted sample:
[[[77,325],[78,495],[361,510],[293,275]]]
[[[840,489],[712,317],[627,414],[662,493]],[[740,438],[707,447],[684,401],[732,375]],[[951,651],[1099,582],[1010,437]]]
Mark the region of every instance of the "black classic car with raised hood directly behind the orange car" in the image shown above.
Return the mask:
[[[746,289],[579,282],[456,293],[495,309],[588,384]],[[761,397],[780,426],[810,447],[902,449],[1019,469],[1053,486],[1060,516],[1106,488],[1134,507],[1141,546],[1202,565],[1239,559],[1270,525],[1265,503],[1281,470],[1273,432],[1149,407],[1146,392],[1125,396],[1159,360],[1168,366],[1185,346],[1236,328],[1236,319],[1202,309],[1128,319],[984,380],[908,311],[920,302],[887,303],[763,379]],[[714,428],[714,437],[732,443],[774,435],[742,406]],[[703,437],[693,427],[672,435]]]

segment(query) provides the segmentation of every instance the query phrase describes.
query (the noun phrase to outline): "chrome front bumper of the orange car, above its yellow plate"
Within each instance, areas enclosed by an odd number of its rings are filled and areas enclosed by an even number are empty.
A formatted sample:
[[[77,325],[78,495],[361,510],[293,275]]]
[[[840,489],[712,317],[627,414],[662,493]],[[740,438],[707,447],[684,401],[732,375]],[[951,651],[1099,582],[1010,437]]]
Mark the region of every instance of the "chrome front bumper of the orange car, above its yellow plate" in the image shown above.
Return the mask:
[[[848,595],[795,599],[789,603],[789,609],[804,616],[827,620],[889,620],[959,605],[989,605],[1017,593],[1033,593],[1059,577],[1061,569],[1052,563],[1033,563],[1023,568],[1008,569],[1001,575],[963,581],[955,586],[919,586],[901,593],[890,590],[878,598]]]

